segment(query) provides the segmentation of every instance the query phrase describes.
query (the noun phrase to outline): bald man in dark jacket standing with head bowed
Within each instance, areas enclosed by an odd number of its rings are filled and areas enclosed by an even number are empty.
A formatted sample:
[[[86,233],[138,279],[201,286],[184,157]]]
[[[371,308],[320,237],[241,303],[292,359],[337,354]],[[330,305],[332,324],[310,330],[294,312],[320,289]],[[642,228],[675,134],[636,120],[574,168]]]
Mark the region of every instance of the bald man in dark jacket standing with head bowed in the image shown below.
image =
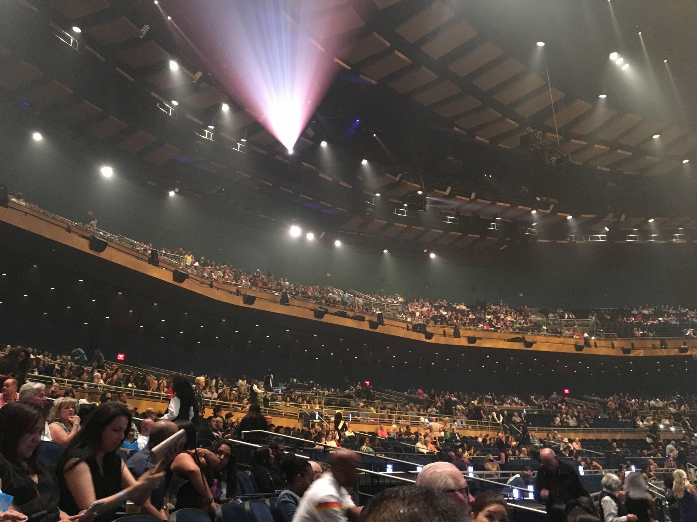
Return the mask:
[[[539,456],[542,464],[537,470],[535,498],[546,504],[549,522],[563,522],[566,505],[576,498],[590,499],[590,494],[576,468],[558,459],[554,450],[544,448]]]

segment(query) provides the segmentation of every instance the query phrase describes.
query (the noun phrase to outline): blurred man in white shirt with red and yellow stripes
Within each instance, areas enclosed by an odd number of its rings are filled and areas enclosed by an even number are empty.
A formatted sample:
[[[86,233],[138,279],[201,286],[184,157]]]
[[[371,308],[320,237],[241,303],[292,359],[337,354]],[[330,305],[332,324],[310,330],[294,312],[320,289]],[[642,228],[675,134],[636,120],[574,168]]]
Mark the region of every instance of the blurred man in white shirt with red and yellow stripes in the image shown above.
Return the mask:
[[[360,457],[351,450],[340,449],[329,457],[330,470],[310,484],[300,500],[293,522],[347,522],[360,514],[346,491],[358,480],[356,468]]]

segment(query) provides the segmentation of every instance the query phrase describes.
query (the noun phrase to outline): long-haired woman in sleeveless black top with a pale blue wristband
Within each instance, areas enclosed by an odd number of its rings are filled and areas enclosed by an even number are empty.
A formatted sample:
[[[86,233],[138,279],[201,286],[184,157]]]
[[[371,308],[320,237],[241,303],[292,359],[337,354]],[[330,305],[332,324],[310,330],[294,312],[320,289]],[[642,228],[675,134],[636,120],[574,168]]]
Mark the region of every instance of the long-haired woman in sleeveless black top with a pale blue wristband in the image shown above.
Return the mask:
[[[95,522],[109,522],[118,518],[117,512],[130,500],[142,506],[145,514],[164,517],[149,500],[164,477],[164,464],[158,463],[135,480],[118,456],[130,425],[131,414],[123,404],[100,404],[68,443],[56,465],[59,505],[67,514],[87,509]]]

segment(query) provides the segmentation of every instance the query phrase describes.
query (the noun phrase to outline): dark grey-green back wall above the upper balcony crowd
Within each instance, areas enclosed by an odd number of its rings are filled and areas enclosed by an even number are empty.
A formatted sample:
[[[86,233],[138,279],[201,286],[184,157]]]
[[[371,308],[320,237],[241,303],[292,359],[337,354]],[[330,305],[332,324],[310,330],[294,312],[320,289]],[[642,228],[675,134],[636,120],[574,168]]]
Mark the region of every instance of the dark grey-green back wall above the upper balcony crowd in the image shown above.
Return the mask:
[[[170,198],[166,187],[125,177],[116,164],[114,176],[106,179],[98,173],[99,161],[59,150],[50,136],[38,143],[24,134],[0,136],[0,182],[10,193],[21,191],[27,200],[83,223],[92,219],[87,214],[92,211],[103,230],[172,250],[182,246],[248,271],[270,270],[304,284],[467,303],[482,297],[516,306],[595,308],[697,301],[690,258],[680,254],[682,246],[691,245],[625,245],[626,251],[609,256],[608,245],[530,244],[509,250],[521,269],[466,266],[448,262],[447,255],[415,260],[398,252],[366,253],[348,241],[336,248],[330,237],[314,244],[291,239],[287,223],[261,228],[222,217],[204,198]]]

